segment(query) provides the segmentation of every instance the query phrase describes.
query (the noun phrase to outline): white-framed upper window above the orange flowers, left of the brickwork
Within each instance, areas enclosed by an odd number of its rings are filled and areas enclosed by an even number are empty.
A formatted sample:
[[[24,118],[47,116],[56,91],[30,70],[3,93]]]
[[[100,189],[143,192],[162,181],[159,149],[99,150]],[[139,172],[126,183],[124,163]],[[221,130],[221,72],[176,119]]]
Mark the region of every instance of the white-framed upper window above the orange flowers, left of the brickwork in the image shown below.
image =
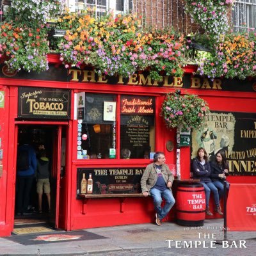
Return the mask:
[[[115,14],[127,13],[132,10],[132,0],[68,0],[67,4],[72,12],[90,7],[95,10],[97,17],[108,12],[108,10],[113,10]]]

